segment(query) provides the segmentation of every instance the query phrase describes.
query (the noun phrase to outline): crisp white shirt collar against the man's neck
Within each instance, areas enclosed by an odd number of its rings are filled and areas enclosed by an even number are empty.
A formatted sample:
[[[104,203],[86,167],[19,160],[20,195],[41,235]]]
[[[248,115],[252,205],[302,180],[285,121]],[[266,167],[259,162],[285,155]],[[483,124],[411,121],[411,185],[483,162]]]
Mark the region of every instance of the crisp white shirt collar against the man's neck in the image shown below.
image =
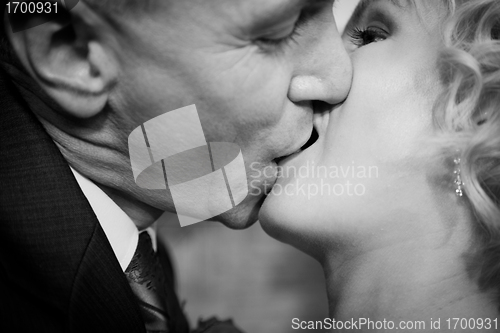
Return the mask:
[[[70,167],[71,168],[71,167]],[[96,184],[71,168],[83,194],[101,224],[115,253],[116,259],[125,272],[134,256],[139,241],[139,231],[132,219]],[[149,231],[149,230],[148,230]],[[152,239],[154,239],[152,237]]]

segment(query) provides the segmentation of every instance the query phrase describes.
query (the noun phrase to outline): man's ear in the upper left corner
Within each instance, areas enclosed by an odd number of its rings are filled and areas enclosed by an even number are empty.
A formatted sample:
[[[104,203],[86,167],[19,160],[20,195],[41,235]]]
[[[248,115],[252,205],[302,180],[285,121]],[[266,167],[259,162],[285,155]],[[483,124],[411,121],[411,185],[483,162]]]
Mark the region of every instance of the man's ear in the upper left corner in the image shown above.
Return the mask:
[[[52,21],[16,33],[7,29],[7,34],[47,94],[69,114],[90,118],[104,109],[117,80],[109,29],[102,16],[80,1]]]

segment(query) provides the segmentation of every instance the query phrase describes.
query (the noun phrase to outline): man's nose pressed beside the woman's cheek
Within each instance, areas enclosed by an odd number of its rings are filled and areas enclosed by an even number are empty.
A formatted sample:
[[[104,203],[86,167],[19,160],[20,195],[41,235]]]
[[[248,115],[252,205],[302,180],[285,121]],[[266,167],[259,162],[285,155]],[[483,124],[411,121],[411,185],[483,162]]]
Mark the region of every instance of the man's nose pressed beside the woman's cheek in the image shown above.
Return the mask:
[[[351,88],[352,64],[333,16],[310,27],[303,41],[288,98],[295,103],[341,103]]]

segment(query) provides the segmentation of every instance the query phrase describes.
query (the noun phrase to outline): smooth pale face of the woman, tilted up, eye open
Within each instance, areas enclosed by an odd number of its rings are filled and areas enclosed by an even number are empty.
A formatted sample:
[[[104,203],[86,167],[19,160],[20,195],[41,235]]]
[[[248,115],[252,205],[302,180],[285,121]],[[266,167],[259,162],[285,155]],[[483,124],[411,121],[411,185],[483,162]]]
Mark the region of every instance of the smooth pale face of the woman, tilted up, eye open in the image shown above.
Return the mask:
[[[319,140],[280,165],[261,210],[273,237],[315,255],[325,246],[369,242],[384,228],[410,230],[410,220],[435,200],[433,182],[446,171],[433,162],[428,139],[441,92],[436,61],[445,6],[416,3],[362,1],[354,14],[344,34],[351,92],[316,117]]]

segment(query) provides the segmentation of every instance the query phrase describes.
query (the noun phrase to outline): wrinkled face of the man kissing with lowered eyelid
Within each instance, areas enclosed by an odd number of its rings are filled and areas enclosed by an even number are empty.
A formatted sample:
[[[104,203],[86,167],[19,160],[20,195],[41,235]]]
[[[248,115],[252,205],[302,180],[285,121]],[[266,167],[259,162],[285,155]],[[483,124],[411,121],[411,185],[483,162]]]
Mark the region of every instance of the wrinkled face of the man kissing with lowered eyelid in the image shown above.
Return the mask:
[[[311,136],[312,102],[337,104],[349,91],[351,64],[332,3],[152,1],[145,13],[119,22],[122,77],[110,103],[125,110],[122,127],[131,131],[195,104],[208,142],[241,148],[250,194],[219,217],[228,226],[256,220],[276,179],[275,159]],[[133,192],[154,207],[172,207],[164,193]]]

